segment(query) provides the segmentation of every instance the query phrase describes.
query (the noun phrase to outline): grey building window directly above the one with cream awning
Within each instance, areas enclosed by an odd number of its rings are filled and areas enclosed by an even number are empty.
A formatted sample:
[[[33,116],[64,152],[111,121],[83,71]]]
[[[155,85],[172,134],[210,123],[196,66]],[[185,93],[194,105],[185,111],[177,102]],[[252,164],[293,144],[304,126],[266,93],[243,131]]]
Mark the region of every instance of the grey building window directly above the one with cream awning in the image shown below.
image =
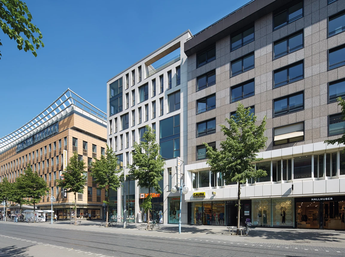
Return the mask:
[[[279,116],[304,109],[303,92],[287,95],[274,100],[274,116]]]

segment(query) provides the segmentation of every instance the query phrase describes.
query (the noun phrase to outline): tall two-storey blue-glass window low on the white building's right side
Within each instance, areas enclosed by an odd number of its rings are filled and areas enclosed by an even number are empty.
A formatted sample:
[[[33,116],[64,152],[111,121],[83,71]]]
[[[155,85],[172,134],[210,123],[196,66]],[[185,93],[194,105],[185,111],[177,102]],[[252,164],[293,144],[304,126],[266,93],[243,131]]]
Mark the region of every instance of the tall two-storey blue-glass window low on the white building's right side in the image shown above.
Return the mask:
[[[164,159],[180,156],[180,115],[159,121],[160,155]]]

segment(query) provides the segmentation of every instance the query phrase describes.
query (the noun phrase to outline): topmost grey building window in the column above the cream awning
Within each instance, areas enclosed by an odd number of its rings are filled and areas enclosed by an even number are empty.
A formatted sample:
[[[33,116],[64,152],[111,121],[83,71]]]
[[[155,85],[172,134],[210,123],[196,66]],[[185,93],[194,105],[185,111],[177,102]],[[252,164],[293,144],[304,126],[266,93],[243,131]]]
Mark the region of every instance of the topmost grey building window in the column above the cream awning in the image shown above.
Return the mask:
[[[292,7],[278,12],[273,16],[273,29],[279,29],[285,25],[303,17],[303,2],[299,2]]]

